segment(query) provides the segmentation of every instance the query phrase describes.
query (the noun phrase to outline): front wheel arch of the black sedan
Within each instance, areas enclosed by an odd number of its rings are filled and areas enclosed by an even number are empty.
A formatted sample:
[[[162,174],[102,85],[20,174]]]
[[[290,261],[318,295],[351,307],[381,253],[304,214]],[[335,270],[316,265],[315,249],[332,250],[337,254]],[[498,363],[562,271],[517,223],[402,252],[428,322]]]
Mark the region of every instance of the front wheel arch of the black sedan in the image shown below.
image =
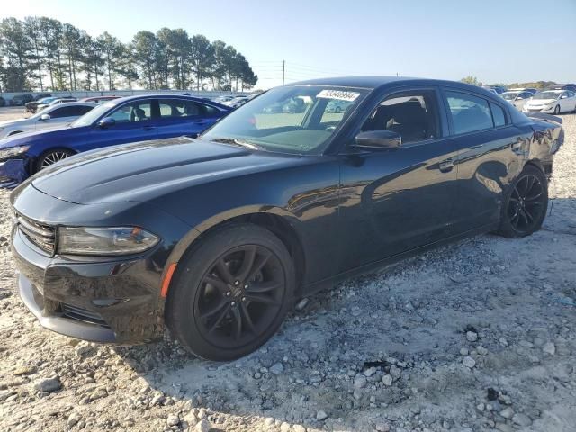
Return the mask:
[[[177,264],[188,254],[193,254],[195,247],[201,244],[204,238],[211,236],[215,231],[240,223],[251,223],[270,230],[284,243],[288,253],[293,258],[296,271],[296,292],[298,297],[302,293],[302,280],[306,271],[305,250],[299,233],[298,219],[289,211],[278,207],[250,206],[244,209],[225,211],[212,216],[208,220],[191,229],[173,248],[166,260],[162,279],[166,277],[169,266]],[[169,289],[168,289],[169,293]]]

